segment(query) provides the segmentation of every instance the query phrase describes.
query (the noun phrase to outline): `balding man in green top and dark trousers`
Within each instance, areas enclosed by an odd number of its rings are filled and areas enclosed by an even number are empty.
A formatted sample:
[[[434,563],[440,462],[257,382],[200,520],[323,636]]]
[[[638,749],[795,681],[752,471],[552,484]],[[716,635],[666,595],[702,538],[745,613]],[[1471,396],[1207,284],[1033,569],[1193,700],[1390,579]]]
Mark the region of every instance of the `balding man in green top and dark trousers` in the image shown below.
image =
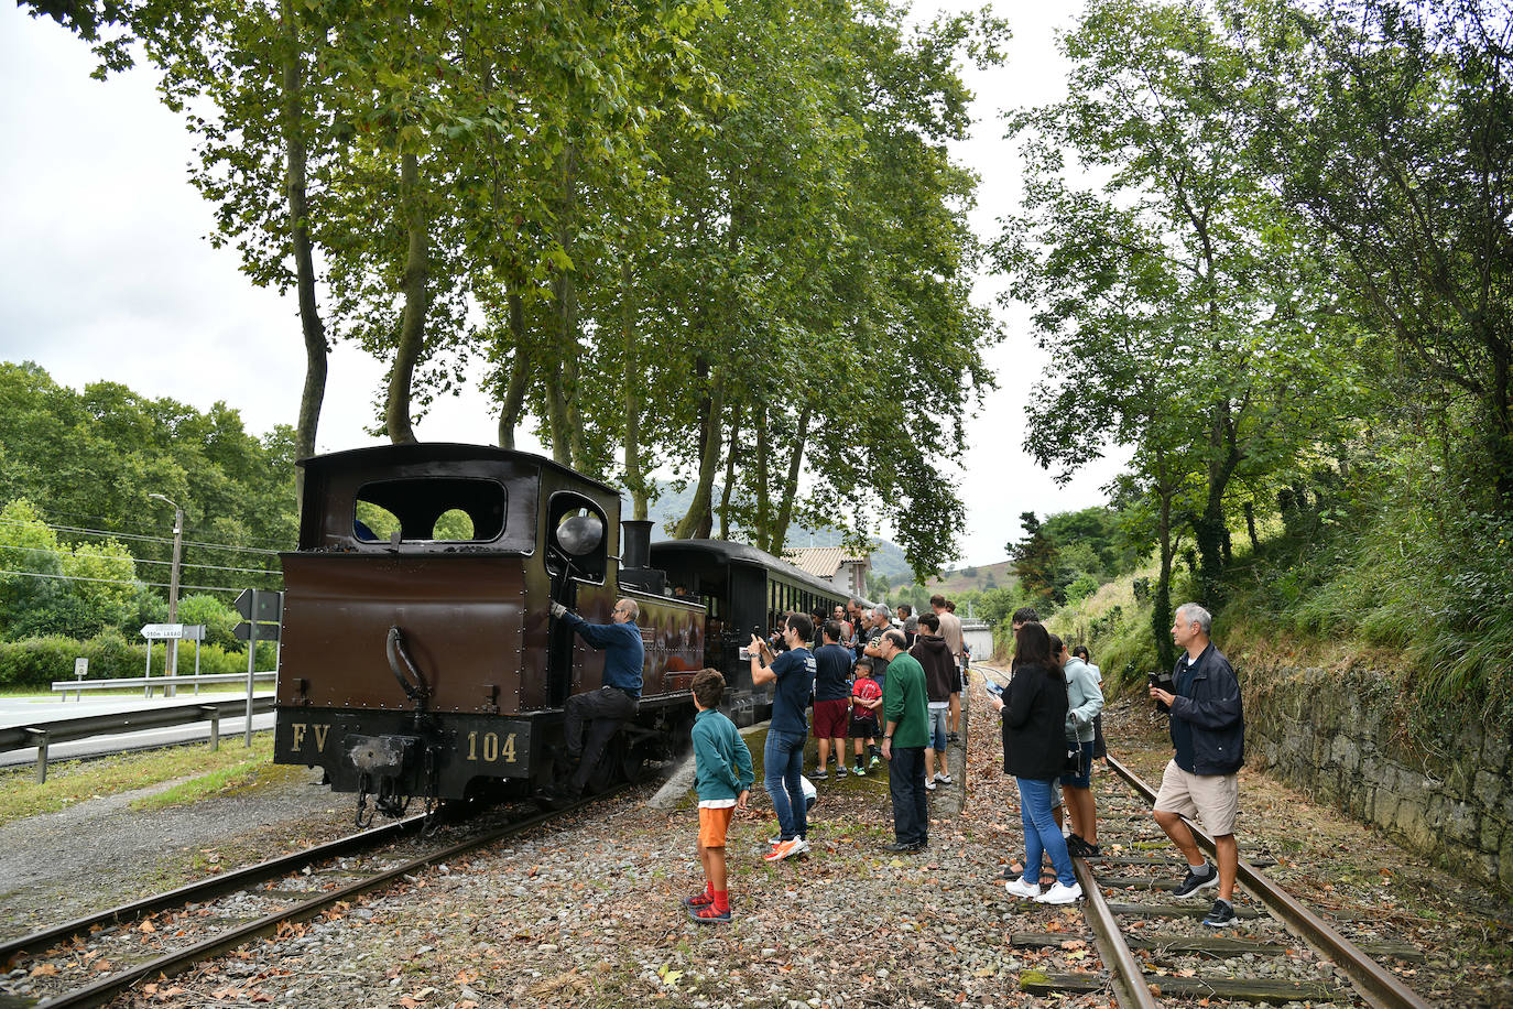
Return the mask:
[[[924,803],[924,746],[929,743],[929,700],[924,667],[908,654],[903,631],[887,631],[878,649],[888,663],[882,688],[882,756],[888,761],[893,797],[893,844],[888,852],[920,852],[929,844],[930,815]]]

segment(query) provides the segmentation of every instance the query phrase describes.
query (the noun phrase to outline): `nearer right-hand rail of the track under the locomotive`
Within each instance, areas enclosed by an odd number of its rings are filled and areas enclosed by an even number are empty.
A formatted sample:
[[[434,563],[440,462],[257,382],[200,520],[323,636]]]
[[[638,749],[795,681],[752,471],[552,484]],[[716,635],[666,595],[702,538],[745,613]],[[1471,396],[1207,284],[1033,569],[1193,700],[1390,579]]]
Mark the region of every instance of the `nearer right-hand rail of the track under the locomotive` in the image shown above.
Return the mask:
[[[625,791],[631,785],[628,784],[620,785],[617,788],[611,788],[610,791],[599,793],[592,799],[581,799],[570,806],[564,806],[563,809],[540,812],[534,817],[527,817],[525,820],[519,820],[505,827],[499,827],[498,830],[490,830],[489,834],[480,835],[477,838],[469,838],[468,841],[458,841],[457,844],[451,844],[439,852],[431,852],[430,855],[422,855],[419,858],[410,859],[409,862],[387,868],[375,876],[369,876],[346,886],[340,886],[337,889],[319,894],[318,897],[312,897],[310,900],[294,905],[292,908],[275,911],[274,914],[257,918],[256,921],[248,921],[245,924],[241,924],[235,929],[215,935],[201,942],[186,945],[182,950],[166,953],[145,964],[138,964],[136,967],[127,968],[117,974],[110,974],[109,977],[101,977],[92,985],[76,988],[74,991],[64,992],[53,998],[44,998],[42,1001],[38,1003],[38,1009],[62,1009],[64,1006],[103,1006],[139,980],[153,977],[156,974],[162,974],[165,977],[179,974],[186,967],[198,964],[200,961],[206,961],[210,959],[212,956],[216,956],[218,953],[233,950],[259,936],[274,933],[278,930],[278,926],[284,923],[307,921],[309,918],[313,918],[315,915],[321,914],[321,911],[324,911],[325,908],[340,903],[342,900],[368,893],[369,889],[378,889],[381,886],[395,882],[396,879],[401,879],[418,870],[427,868],[436,862],[442,862],[449,858],[464,855],[468,852],[493,844],[495,841],[501,841],[513,834],[528,830],[530,827],[534,827],[540,823],[546,823],[555,817],[560,817],[564,812],[570,812],[572,809],[578,809],[584,805],[589,805],[590,802],[599,802],[602,799],[608,799],[610,796],[619,794],[620,791]]]

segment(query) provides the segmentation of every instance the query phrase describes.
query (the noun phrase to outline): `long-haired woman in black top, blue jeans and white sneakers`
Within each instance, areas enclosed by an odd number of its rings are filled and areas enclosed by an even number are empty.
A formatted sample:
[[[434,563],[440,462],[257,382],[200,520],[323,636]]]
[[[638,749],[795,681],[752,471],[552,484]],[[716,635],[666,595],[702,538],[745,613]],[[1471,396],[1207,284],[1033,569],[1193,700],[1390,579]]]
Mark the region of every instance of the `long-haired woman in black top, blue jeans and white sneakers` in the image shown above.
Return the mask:
[[[1067,838],[1050,814],[1052,790],[1065,767],[1067,681],[1050,657],[1050,635],[1041,623],[1026,623],[1015,634],[1014,678],[1003,699],[993,705],[1003,716],[1003,773],[1014,775],[1020,788],[1020,820],[1024,823],[1024,876],[1005,886],[1015,897],[1042,903],[1073,903],[1082,886],[1071,870]],[[991,694],[990,694],[991,696]],[[1042,853],[1056,868],[1056,885],[1039,888]]]

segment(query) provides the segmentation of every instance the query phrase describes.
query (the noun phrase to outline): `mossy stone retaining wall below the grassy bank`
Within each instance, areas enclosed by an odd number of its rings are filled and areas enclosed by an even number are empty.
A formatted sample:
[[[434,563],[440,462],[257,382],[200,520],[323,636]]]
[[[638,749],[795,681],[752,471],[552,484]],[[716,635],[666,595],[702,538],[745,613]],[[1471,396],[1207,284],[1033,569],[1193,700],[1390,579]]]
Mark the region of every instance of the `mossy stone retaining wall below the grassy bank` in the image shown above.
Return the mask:
[[[1465,719],[1410,740],[1392,678],[1236,661],[1245,750],[1451,871],[1513,893],[1513,726]]]

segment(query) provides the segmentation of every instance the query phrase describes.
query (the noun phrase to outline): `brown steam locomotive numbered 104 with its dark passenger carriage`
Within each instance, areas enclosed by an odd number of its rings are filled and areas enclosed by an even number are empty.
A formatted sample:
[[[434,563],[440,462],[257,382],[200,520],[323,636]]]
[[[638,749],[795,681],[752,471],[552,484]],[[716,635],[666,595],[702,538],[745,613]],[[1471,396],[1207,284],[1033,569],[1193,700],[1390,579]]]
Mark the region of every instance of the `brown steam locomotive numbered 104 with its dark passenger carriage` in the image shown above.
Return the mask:
[[[835,585],[723,540],[651,545],[613,487],[528,452],[386,445],[304,467],[284,608],[274,761],[396,814],[419,797],[523,797],[552,785],[563,705],[598,690],[604,655],[551,617],[610,623],[640,605],[640,713],[589,790],[670,759],[693,725],[688,684],[725,673],[738,725],[767,717],[740,649],[782,614],[828,613]],[[623,536],[616,536],[623,529]]]

